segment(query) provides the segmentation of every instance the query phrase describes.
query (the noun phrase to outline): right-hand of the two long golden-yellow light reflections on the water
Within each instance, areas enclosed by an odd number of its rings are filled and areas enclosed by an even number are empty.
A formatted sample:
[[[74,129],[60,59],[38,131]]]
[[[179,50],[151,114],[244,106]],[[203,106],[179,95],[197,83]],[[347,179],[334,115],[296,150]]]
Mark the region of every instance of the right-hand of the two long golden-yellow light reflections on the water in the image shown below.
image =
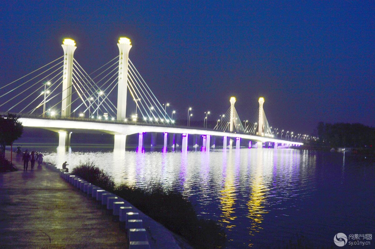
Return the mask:
[[[257,166],[254,172],[254,180],[251,186],[251,194],[249,196],[249,201],[247,204],[249,213],[246,217],[250,218],[250,227],[249,227],[249,234],[254,236],[255,233],[259,232],[261,229],[261,223],[264,219],[264,214],[268,213],[268,211],[264,210],[264,202],[266,201],[266,192],[269,190],[266,188],[263,182],[262,176],[263,170],[263,154],[261,150],[258,150],[257,153]],[[253,246],[254,244],[249,243],[249,246]]]

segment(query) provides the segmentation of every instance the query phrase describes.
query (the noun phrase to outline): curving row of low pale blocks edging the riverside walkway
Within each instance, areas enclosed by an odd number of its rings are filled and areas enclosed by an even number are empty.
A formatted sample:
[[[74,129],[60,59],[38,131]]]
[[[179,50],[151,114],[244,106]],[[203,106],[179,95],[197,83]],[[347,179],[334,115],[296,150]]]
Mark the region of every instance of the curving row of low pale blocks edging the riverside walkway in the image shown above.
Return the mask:
[[[87,195],[96,198],[102,205],[107,205],[108,210],[113,210],[113,215],[118,216],[121,223],[125,223],[129,249],[150,249],[146,230],[143,228],[142,219],[138,212],[132,212],[133,207],[125,204],[125,200],[113,193],[105,191],[98,186],[67,172],[60,172],[60,176]],[[127,202],[126,202],[127,203]]]

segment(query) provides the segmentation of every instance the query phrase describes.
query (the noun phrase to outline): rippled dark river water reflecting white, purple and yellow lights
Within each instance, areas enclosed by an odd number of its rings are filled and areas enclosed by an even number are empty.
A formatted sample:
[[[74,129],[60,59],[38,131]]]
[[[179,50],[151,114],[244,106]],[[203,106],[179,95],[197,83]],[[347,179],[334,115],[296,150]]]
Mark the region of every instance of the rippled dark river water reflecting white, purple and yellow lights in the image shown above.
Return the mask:
[[[176,189],[199,215],[224,227],[226,248],[330,248],[337,233],[375,231],[375,167],[364,156],[265,148],[37,150],[57,165],[68,161],[69,168],[94,161],[117,183]]]

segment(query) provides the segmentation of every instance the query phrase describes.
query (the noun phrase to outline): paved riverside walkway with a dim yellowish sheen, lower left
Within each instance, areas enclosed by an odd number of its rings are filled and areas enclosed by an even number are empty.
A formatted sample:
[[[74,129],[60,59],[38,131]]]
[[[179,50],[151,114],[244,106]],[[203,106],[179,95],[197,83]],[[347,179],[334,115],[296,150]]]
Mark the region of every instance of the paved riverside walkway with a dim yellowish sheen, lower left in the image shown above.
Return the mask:
[[[0,173],[0,248],[128,247],[119,222],[58,173],[23,171],[15,153],[13,164],[18,171]]]

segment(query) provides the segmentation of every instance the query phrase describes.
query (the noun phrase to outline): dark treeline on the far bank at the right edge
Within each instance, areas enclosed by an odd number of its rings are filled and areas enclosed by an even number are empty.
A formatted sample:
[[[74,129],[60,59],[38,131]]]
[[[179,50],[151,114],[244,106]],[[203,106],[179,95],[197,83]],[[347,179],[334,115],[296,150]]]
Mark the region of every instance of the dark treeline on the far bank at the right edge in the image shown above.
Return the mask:
[[[374,148],[375,128],[363,124],[319,122],[319,142],[331,147]]]

